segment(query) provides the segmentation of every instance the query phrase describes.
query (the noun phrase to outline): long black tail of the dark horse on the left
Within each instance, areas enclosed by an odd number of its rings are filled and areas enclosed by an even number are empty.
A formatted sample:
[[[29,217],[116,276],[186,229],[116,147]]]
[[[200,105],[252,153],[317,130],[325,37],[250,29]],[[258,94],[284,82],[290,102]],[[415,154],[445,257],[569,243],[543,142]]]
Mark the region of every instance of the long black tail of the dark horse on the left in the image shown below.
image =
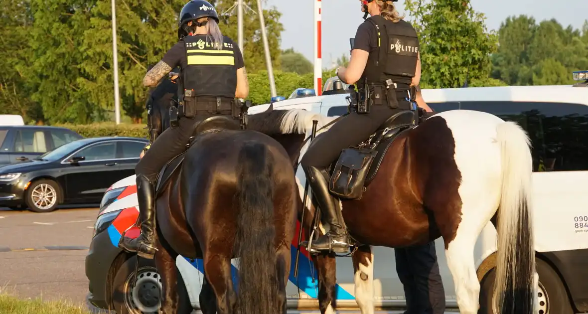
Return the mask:
[[[262,143],[239,152],[239,213],[235,253],[239,258],[237,314],[277,314],[273,158]]]

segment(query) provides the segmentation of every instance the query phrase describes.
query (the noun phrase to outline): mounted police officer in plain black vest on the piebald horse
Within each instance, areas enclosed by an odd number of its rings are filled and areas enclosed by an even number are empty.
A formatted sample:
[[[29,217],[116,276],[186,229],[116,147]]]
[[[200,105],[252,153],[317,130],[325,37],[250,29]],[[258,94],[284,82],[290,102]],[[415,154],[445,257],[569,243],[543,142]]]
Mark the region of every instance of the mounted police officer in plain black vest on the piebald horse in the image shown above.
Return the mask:
[[[300,161],[323,220],[330,225],[326,235],[312,241],[311,250],[346,252],[349,249],[339,201],[329,192],[326,168],[343,149],[368,139],[395,113],[416,110],[412,100],[414,86],[420,80],[419,38],[392,2],[362,1],[364,18],[371,16],[359,25],[348,68],[336,69],[343,82],[357,83],[358,95],[366,95],[358,101],[365,105],[358,105],[356,111],[316,138]]]

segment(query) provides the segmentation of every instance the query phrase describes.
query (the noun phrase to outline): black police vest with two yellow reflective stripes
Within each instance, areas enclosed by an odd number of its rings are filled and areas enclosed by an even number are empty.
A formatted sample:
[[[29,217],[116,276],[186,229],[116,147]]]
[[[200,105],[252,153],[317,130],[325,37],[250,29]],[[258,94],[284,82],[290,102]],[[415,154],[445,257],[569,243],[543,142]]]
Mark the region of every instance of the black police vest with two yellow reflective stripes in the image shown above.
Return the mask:
[[[233,42],[224,36],[222,50],[206,35],[186,36],[182,39],[186,48],[187,65],[181,69],[182,87],[191,96],[215,96],[235,98],[237,69]]]

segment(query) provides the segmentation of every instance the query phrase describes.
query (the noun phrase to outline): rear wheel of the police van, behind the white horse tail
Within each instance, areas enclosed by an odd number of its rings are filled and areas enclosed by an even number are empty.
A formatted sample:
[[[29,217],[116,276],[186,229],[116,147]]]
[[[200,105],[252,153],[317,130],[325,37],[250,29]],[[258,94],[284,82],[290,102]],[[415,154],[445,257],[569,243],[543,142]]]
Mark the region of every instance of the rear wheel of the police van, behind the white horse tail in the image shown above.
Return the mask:
[[[570,299],[567,296],[559,275],[549,264],[537,258],[537,274],[539,274],[539,310],[537,314],[573,314]],[[496,279],[496,269],[492,268],[480,283],[479,314],[494,314],[493,292]]]

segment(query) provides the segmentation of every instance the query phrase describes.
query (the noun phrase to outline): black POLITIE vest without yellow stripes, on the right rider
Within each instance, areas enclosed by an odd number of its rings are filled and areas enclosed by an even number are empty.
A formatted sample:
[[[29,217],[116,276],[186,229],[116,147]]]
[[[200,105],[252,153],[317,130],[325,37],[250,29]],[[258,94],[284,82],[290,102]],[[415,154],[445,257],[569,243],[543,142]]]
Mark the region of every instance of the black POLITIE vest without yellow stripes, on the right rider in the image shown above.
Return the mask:
[[[376,28],[379,49],[369,54],[368,64],[358,85],[364,79],[369,83],[383,83],[392,79],[401,83],[398,90],[406,89],[416,72],[416,61],[419,53],[419,38],[409,22],[387,21],[380,15],[371,16],[365,23],[372,23]],[[406,85],[405,85],[406,84]]]

